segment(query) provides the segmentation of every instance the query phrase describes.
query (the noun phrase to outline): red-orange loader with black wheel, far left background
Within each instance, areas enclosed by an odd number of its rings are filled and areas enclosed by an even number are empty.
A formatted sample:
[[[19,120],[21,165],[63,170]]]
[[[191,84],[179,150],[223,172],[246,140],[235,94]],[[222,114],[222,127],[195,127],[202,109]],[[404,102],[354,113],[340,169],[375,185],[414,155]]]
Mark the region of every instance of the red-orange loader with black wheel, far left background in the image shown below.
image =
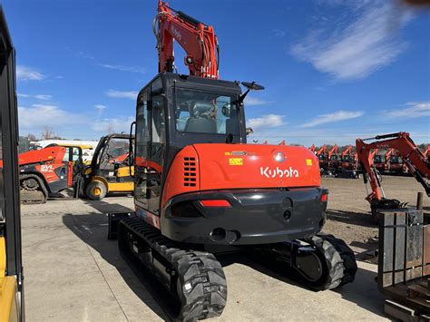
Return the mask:
[[[73,148],[76,147],[49,146],[19,154],[22,203],[44,203],[49,196],[56,197],[60,191],[73,187],[73,179],[82,165],[82,151],[80,159],[73,161]]]

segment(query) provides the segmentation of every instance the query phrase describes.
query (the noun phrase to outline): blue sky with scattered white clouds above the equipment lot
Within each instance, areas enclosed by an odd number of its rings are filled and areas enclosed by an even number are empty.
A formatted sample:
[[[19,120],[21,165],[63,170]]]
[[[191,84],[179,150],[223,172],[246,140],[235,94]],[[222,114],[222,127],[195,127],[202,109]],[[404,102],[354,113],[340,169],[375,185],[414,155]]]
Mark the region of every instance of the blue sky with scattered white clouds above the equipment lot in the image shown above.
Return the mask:
[[[246,101],[252,140],[347,144],[406,131],[430,141],[429,10],[359,0],[169,3],[214,26],[220,78],[266,87]],[[2,4],[17,51],[20,133],[128,131],[136,93],[157,73],[157,1]]]

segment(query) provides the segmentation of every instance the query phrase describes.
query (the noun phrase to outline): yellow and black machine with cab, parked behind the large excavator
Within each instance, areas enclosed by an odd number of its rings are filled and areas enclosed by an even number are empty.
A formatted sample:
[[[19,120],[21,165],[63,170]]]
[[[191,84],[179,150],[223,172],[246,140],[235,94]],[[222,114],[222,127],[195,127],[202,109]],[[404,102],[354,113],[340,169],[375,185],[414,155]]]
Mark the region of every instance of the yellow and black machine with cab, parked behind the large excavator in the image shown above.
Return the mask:
[[[99,141],[91,166],[84,171],[84,191],[88,198],[102,200],[108,193],[132,193],[131,143],[128,134],[110,134]]]

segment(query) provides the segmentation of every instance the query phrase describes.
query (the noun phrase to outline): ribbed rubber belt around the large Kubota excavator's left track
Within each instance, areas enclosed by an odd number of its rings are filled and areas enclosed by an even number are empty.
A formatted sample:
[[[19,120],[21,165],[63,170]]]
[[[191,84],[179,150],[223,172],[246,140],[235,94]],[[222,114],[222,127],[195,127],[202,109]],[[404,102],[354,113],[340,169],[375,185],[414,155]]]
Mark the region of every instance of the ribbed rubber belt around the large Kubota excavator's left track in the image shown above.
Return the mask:
[[[181,313],[175,319],[194,321],[221,315],[227,302],[227,282],[220,262],[208,252],[183,249],[138,218],[122,220],[175,268],[181,281]],[[176,291],[176,290],[174,290]]]

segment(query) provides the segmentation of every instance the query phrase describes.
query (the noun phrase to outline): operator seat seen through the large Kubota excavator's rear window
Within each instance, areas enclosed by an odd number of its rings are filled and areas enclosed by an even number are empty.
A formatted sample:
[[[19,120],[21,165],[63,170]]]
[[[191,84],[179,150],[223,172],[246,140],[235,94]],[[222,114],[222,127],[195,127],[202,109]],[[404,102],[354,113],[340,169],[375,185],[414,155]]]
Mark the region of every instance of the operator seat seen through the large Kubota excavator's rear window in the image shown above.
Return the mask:
[[[193,102],[191,117],[185,124],[185,132],[217,133],[216,106],[210,102]]]

